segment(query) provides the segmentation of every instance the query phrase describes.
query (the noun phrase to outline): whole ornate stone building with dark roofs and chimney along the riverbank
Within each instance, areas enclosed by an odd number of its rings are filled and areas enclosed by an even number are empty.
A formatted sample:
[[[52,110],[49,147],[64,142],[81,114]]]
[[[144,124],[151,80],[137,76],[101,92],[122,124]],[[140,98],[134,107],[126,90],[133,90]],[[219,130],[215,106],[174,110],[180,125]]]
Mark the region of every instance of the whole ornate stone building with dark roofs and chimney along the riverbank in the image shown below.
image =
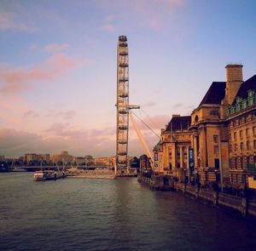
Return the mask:
[[[256,75],[243,82],[240,64],[225,68],[226,82],[213,82],[191,117],[173,116],[161,130],[154,146],[158,173],[202,185],[255,180]]]

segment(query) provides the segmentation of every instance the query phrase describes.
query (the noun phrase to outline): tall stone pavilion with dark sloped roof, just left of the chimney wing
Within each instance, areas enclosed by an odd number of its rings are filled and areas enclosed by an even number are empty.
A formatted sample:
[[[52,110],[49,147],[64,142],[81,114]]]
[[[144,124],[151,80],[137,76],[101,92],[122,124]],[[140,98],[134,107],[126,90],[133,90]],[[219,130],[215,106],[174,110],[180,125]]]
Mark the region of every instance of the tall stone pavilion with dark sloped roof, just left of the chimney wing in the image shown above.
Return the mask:
[[[201,184],[217,180],[220,171],[223,171],[226,179],[229,178],[228,136],[220,117],[225,88],[225,82],[213,82],[200,105],[191,114],[189,130],[194,151],[194,174],[199,174]]]

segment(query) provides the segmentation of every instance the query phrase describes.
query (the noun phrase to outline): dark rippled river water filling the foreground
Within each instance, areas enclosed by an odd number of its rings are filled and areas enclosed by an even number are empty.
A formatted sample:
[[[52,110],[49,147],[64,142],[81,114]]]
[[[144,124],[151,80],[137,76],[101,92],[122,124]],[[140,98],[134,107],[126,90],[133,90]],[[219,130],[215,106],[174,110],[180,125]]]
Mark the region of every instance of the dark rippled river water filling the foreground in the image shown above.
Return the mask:
[[[0,174],[0,250],[256,250],[256,226],[136,178]]]

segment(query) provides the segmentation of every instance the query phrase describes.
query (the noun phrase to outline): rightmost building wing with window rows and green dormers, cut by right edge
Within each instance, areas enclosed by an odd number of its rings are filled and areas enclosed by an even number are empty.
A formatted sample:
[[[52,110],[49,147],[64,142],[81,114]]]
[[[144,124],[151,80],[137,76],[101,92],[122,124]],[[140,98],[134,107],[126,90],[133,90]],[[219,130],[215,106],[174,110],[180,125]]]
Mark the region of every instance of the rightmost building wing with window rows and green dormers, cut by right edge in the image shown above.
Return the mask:
[[[241,83],[226,110],[230,181],[241,185],[256,175],[256,75]]]

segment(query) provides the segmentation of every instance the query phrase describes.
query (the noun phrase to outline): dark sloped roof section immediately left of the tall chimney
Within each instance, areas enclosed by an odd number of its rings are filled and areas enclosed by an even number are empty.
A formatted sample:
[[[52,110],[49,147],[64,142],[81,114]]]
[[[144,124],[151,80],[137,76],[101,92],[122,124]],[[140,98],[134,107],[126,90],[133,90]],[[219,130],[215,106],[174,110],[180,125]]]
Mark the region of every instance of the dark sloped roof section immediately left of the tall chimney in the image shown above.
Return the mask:
[[[205,94],[199,106],[203,104],[220,105],[221,100],[223,100],[225,96],[225,88],[225,82],[212,82],[210,88],[207,90],[207,94]]]

